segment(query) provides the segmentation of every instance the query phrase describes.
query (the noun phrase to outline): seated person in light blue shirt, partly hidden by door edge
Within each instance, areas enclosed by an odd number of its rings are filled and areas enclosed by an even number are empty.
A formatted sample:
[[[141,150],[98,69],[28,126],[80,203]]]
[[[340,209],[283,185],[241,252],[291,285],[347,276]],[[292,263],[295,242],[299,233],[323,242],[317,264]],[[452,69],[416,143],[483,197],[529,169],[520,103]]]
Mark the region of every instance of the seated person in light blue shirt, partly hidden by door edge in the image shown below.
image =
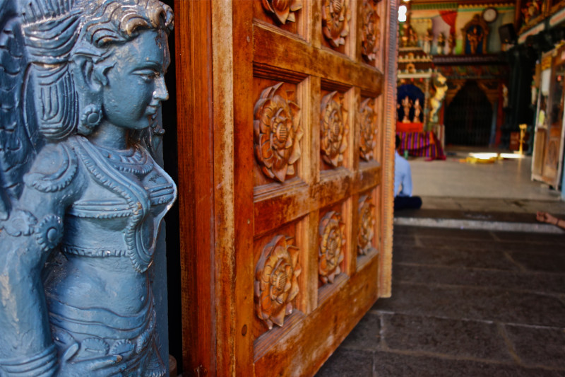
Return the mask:
[[[412,172],[410,163],[400,157],[400,137],[396,135],[396,151],[394,153],[394,209],[420,209],[422,199],[412,197]],[[402,188],[400,188],[402,186]]]

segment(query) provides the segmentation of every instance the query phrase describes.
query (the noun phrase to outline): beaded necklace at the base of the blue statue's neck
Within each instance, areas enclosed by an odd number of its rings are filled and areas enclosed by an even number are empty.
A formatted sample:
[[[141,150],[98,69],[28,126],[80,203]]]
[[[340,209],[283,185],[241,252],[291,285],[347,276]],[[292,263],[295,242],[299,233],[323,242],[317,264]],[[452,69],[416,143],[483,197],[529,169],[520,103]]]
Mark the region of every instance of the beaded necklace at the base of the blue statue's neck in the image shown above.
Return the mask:
[[[108,149],[103,146],[96,146],[96,149],[109,160],[114,168],[121,172],[143,178],[153,170],[153,161],[149,158],[148,153],[141,151],[138,146],[125,150]]]

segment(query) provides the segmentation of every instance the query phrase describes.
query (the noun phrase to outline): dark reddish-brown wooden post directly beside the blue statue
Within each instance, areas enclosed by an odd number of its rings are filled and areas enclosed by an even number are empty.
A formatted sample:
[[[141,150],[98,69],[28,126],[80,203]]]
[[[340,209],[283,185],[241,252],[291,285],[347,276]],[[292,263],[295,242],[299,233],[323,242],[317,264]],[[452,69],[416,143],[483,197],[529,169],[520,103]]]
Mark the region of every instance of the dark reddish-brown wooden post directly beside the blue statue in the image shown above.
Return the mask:
[[[182,292],[182,361],[190,376],[216,376],[212,7],[174,1]],[[198,218],[210,221],[198,221]],[[208,282],[208,284],[199,284]]]

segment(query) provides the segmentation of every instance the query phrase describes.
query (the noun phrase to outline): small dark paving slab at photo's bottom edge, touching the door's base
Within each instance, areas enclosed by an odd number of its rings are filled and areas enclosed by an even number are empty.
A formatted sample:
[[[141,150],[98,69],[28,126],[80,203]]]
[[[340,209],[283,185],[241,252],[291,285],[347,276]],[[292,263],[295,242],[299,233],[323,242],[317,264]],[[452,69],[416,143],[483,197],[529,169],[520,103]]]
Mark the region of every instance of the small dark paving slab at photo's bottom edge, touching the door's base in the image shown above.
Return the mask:
[[[374,376],[373,353],[339,347],[316,377],[371,377]]]

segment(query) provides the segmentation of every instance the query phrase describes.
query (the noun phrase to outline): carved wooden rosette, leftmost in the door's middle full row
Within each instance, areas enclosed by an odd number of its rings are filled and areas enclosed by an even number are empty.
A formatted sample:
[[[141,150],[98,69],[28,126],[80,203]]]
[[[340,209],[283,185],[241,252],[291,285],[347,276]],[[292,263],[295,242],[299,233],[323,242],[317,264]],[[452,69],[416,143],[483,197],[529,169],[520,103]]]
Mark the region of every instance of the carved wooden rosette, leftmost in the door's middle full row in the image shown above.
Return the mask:
[[[253,122],[255,156],[268,178],[285,182],[295,173],[300,157],[299,141],[304,132],[300,127],[300,108],[288,100],[283,83],[269,86],[255,103]]]

